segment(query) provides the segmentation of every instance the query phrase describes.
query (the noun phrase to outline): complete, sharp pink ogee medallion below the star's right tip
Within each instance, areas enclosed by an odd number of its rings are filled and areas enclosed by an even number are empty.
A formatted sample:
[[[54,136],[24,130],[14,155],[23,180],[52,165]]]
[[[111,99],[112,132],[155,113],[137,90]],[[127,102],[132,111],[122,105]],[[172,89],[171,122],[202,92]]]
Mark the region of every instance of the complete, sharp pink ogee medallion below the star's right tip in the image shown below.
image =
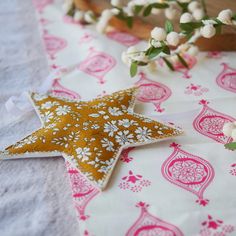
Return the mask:
[[[209,162],[180,149],[180,145],[172,143],[174,152],[163,163],[162,175],[175,184],[198,197],[196,201],[202,206],[209,200],[203,199],[203,193],[214,178],[214,169]]]

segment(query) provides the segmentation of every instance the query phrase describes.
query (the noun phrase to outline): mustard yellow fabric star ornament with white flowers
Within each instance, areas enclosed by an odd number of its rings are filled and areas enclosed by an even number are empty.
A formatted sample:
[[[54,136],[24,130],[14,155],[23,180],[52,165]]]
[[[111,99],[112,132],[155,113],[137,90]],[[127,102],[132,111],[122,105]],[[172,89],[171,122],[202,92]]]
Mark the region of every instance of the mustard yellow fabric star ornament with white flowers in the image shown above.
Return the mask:
[[[136,92],[126,89],[88,102],[32,93],[42,127],[7,147],[1,158],[62,155],[104,189],[124,148],[182,133],[134,113]]]

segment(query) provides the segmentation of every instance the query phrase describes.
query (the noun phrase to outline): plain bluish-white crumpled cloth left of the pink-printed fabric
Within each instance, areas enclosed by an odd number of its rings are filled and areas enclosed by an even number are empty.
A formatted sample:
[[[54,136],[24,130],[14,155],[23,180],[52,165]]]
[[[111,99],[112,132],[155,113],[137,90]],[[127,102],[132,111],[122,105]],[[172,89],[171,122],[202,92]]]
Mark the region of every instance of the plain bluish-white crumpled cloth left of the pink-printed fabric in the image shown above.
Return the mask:
[[[34,112],[12,123],[4,102],[40,84],[48,68],[31,0],[0,1],[0,25],[2,149],[40,126]],[[79,235],[61,157],[0,162],[0,235]]]

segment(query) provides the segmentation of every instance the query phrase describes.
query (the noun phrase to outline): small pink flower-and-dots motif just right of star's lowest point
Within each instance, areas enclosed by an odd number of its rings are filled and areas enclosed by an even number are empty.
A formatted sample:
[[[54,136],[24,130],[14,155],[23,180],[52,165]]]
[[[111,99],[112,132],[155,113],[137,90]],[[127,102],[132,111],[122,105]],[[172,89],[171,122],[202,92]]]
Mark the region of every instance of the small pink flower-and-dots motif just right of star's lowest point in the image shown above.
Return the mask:
[[[119,184],[121,189],[129,189],[132,192],[140,192],[143,187],[148,187],[151,184],[151,181],[143,179],[142,175],[135,175],[131,170],[127,176],[122,178],[122,181]]]

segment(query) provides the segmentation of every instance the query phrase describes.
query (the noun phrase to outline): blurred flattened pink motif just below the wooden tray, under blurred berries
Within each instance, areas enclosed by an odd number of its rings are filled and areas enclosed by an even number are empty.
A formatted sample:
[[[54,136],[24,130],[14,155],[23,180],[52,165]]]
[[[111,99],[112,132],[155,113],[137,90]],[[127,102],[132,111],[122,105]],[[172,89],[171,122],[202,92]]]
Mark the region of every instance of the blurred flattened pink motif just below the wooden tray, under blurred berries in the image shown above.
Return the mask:
[[[117,41],[118,43],[121,43],[127,47],[135,45],[140,41],[138,38],[134,37],[131,34],[127,34],[125,32],[118,32],[118,31],[108,32],[107,37],[110,39],[113,39],[113,40]]]

